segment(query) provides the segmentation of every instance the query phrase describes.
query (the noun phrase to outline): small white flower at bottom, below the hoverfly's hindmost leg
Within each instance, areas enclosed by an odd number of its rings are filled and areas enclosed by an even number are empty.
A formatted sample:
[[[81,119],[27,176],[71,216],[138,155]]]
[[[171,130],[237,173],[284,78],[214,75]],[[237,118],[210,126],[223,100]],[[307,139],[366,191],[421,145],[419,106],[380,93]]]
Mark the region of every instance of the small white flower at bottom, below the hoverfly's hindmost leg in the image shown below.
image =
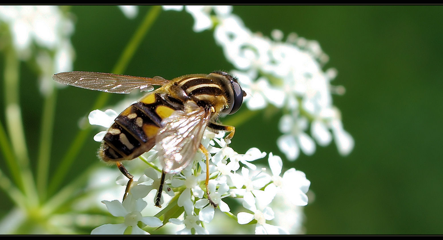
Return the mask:
[[[163,225],[162,221],[157,217],[143,217],[141,210],[143,210],[147,203],[142,199],[135,199],[131,195],[126,197],[123,203],[120,201],[102,201],[115,217],[124,217],[124,223],[120,224],[105,224],[94,228],[91,234],[98,235],[122,235],[126,228],[132,227],[131,234],[149,234],[137,226],[141,221],[145,225],[151,227],[159,227]]]

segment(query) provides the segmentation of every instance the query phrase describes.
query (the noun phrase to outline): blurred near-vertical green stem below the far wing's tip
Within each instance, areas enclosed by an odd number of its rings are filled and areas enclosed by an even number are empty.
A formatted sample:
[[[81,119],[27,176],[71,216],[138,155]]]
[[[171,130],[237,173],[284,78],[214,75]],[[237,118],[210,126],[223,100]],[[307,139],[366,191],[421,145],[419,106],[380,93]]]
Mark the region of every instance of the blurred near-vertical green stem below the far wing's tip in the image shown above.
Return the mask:
[[[37,162],[37,190],[40,199],[44,202],[46,199],[46,190],[48,182],[49,162],[51,159],[52,132],[54,126],[55,106],[57,99],[57,89],[52,88],[51,93],[45,95],[41,133],[39,157]]]

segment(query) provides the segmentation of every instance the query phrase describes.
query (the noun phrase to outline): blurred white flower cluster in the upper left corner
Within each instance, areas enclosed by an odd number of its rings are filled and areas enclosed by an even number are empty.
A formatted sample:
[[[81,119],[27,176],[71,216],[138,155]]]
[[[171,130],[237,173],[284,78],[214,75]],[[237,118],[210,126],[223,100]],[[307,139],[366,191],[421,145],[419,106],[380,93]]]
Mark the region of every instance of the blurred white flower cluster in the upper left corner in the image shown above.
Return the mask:
[[[52,74],[72,70],[74,48],[70,36],[74,23],[57,6],[43,5],[0,6],[0,24],[2,22],[8,25],[6,29],[19,57],[36,59],[41,92],[51,93],[55,84]]]

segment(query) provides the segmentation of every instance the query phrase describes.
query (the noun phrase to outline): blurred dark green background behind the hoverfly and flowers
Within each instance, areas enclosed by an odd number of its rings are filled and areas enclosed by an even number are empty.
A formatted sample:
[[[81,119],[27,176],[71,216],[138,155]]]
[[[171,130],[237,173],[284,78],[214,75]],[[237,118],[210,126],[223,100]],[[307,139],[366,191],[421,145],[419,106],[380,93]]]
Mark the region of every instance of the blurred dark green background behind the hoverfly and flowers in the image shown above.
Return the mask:
[[[73,6],[74,70],[110,72],[150,6],[135,19],[115,6]],[[441,234],[443,223],[443,8],[440,6],[234,6],[251,31],[273,29],[317,40],[338,76],[334,95],[344,128],[355,140],[342,157],[334,143],[295,162],[278,150],[281,115],[256,115],[236,125],[230,145],[237,152],[257,147],[284,159],[311,181],[304,207],[307,234]],[[195,33],[186,12],[161,12],[124,74],[166,79],[183,74],[232,70],[212,31]],[[179,40],[178,40],[179,39]],[[4,66],[4,56],[0,56]],[[31,66],[20,65],[20,103],[30,159],[37,157],[43,109]],[[0,76],[3,81],[3,75]],[[0,93],[4,92],[0,84]],[[58,91],[51,170],[78,132],[98,93],[69,87]],[[113,95],[108,105],[122,99]],[[4,98],[0,97],[4,123]],[[97,162],[95,130],[70,169],[78,175]],[[2,156],[0,155],[0,158]],[[1,160],[2,164],[3,160]],[[69,177],[66,178],[69,182]],[[63,183],[62,183],[63,184]],[[0,217],[12,208],[3,199]]]

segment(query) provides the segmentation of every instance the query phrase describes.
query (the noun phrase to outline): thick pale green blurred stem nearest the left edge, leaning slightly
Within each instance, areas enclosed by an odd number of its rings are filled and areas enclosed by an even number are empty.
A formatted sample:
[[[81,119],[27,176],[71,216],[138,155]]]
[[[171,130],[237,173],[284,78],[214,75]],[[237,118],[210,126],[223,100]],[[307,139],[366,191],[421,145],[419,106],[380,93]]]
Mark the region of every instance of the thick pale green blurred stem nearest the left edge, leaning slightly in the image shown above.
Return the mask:
[[[6,127],[11,139],[12,150],[19,163],[19,172],[22,178],[23,189],[30,206],[38,204],[38,195],[34,178],[29,164],[26,138],[23,130],[23,120],[19,105],[19,71],[20,64],[13,48],[5,51],[4,70],[4,102]]]

